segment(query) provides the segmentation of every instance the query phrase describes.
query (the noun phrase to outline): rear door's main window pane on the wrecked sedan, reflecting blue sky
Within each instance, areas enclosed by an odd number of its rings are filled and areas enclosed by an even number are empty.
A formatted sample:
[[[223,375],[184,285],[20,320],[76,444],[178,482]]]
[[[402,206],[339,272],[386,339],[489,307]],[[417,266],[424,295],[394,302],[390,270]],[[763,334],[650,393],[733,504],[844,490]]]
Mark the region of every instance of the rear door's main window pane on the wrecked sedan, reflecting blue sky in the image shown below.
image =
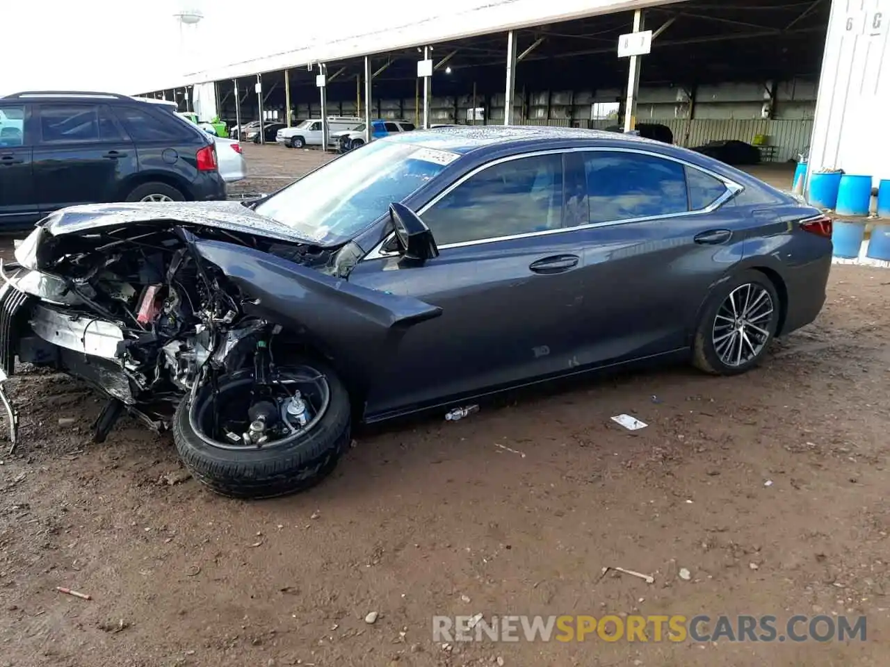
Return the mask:
[[[689,211],[684,165],[672,160],[595,151],[585,157],[585,171],[592,223]]]

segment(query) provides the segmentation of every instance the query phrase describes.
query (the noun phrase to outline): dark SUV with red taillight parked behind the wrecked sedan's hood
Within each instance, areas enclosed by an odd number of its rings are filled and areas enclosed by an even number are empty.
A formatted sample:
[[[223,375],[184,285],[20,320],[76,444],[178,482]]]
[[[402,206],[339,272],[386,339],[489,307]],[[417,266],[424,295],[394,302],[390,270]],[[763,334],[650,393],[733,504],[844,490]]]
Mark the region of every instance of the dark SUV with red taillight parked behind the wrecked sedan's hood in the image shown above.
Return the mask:
[[[108,92],[0,97],[0,227],[64,206],[225,199],[213,140],[175,106]]]

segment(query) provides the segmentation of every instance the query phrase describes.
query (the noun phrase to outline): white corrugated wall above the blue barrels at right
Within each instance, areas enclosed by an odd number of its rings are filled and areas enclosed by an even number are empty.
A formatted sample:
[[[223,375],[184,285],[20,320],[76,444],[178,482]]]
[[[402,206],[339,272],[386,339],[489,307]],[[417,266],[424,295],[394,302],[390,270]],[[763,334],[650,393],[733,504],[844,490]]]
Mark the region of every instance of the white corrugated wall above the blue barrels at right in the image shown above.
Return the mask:
[[[875,28],[877,26],[877,28]],[[810,173],[843,169],[890,179],[890,0],[833,0]]]

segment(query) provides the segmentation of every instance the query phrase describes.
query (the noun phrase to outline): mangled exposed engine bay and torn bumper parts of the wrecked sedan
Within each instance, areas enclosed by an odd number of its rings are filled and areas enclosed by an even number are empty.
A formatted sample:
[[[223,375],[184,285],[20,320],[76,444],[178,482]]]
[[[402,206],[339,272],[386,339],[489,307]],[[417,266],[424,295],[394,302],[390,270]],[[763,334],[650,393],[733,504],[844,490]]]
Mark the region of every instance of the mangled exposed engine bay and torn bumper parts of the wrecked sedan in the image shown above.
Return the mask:
[[[333,256],[309,245],[217,229],[202,230],[202,237],[321,271],[330,270]],[[263,446],[312,421],[312,400],[293,378],[285,380],[294,385],[289,391],[271,389],[281,382],[271,356],[281,325],[247,315],[245,306],[256,299],[202,260],[195,238],[184,226],[156,223],[44,238],[39,248],[23,244],[18,253],[24,258],[33,252],[39,270],[5,270],[12,285],[40,297],[27,315],[30,331],[20,336],[20,361],[60,367],[109,394],[97,440],[124,408],[151,428],[165,429],[184,395],[193,397],[206,382],[244,369],[255,378],[251,403],[243,418],[214,429],[226,441]]]

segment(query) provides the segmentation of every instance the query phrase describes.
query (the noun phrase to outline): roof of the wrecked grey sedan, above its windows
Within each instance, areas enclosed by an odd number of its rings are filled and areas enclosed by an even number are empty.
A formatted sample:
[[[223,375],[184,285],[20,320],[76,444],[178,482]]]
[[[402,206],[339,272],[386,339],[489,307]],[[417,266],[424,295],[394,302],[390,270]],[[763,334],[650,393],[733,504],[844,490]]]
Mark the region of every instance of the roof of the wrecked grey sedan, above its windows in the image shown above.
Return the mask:
[[[396,134],[381,141],[404,141],[431,149],[449,150],[454,153],[470,153],[478,149],[549,148],[550,144],[583,142],[585,145],[601,143],[610,146],[664,147],[668,144],[643,139],[631,134],[585,130],[578,127],[554,127],[547,125],[451,125],[413,133]]]

